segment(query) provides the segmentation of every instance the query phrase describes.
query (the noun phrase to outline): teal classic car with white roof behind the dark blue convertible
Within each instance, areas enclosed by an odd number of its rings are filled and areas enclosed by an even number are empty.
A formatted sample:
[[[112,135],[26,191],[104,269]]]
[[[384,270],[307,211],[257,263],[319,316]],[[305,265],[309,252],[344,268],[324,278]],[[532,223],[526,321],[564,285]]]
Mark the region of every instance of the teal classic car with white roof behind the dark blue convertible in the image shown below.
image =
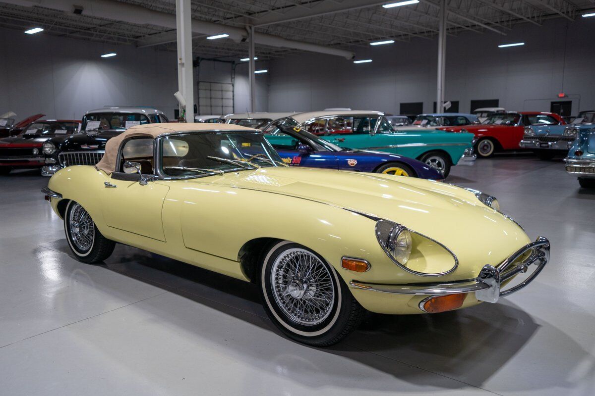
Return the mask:
[[[369,110],[343,110],[296,113],[271,124],[295,124],[313,134],[322,135],[340,147],[365,148],[420,160],[444,177],[453,165],[472,165],[475,161],[475,135],[444,132],[437,129],[401,132],[393,129],[384,114]]]

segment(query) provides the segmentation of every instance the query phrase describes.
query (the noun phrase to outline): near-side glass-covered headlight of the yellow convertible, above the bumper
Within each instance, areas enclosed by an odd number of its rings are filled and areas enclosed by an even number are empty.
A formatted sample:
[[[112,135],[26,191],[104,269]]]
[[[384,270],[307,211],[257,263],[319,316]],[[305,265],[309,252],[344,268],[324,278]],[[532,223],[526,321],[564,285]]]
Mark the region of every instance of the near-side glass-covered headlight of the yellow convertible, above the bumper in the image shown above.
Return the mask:
[[[422,276],[451,273],[458,259],[450,249],[437,240],[409,230],[402,224],[378,220],[376,238],[383,251],[403,270]]]

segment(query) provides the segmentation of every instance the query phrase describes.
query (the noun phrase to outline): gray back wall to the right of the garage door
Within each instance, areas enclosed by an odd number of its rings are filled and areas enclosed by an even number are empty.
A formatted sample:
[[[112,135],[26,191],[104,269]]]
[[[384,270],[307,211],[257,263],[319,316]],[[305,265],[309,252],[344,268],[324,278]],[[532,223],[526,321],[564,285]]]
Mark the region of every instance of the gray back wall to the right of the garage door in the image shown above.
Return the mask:
[[[461,33],[447,37],[446,100],[469,112],[474,99],[499,99],[509,110],[549,111],[560,91],[569,94],[572,113],[595,108],[595,18],[519,24],[506,36]],[[500,49],[502,43],[525,46]],[[270,111],[325,107],[399,113],[399,104],[436,100],[437,40],[358,48],[353,64],[336,56],[300,55],[270,61]],[[564,64],[564,53],[566,62]],[[563,84],[562,84],[563,80]],[[580,102],[580,104],[579,104]],[[580,107],[580,108],[579,108]]]

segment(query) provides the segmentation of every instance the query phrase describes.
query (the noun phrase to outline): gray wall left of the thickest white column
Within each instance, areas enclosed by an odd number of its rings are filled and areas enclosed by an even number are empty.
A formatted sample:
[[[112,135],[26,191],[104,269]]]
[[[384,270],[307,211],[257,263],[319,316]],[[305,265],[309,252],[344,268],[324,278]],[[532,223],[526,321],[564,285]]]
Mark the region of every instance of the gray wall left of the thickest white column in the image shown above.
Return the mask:
[[[117,52],[112,58],[102,53]],[[105,105],[155,106],[173,117],[176,53],[0,29],[0,113],[81,118]]]

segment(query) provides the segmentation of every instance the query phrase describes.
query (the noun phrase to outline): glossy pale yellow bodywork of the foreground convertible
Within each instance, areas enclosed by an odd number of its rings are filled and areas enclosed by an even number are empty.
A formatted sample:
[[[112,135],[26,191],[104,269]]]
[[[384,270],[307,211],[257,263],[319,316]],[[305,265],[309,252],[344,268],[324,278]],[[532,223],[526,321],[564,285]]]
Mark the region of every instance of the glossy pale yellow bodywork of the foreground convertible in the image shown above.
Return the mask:
[[[52,176],[48,187],[62,199],[79,202],[108,239],[243,280],[250,279],[240,264],[240,249],[257,238],[290,240],[312,249],[347,285],[354,280],[474,279],[484,265],[497,265],[530,242],[518,224],[472,192],[404,176],[265,167],[140,185],[114,180],[92,166],[72,166]],[[52,198],[51,204],[61,216],[59,201]],[[379,245],[375,221],[368,215],[437,240],[456,255],[458,267],[441,276],[403,270]],[[365,259],[371,268],[365,273],[345,270],[343,256]],[[369,311],[422,313],[418,303],[424,296],[350,290]],[[463,306],[477,303],[469,294]]]

